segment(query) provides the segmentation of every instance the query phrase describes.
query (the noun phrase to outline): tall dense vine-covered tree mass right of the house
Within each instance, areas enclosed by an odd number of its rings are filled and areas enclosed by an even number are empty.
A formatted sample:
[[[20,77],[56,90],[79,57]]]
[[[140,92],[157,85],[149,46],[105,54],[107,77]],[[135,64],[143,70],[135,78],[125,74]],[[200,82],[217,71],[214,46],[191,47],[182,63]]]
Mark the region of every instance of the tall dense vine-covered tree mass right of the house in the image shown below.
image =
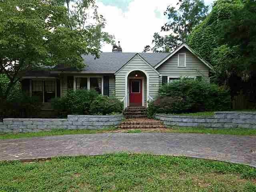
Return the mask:
[[[188,39],[188,44],[214,66],[213,81],[228,86],[231,96],[242,90],[256,102],[255,0],[217,0]]]

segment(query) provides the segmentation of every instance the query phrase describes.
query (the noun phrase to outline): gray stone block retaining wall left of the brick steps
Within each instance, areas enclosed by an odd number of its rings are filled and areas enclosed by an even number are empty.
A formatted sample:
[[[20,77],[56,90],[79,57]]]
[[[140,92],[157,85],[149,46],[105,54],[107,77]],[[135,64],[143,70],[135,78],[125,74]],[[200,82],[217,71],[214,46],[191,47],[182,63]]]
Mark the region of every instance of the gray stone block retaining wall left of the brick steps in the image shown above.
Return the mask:
[[[102,129],[117,126],[123,115],[68,115],[67,119],[17,119],[0,122],[0,132],[38,132],[52,129]]]

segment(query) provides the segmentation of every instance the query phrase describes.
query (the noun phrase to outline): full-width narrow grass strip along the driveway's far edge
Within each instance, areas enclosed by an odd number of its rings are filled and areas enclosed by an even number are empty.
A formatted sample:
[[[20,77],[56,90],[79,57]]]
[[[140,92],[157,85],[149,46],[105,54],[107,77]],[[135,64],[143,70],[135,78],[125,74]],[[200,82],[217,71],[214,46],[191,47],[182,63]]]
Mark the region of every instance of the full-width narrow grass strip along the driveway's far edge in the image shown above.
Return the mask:
[[[69,135],[69,134],[96,134],[96,133],[148,133],[148,132],[161,132],[161,133],[197,133],[197,134],[230,134],[230,135],[256,135],[256,129],[242,129],[242,128],[202,128],[202,127],[169,127],[166,129],[128,129],[121,130],[116,128],[100,129],[100,130],[52,130],[42,131],[36,133],[0,133],[0,140],[3,139],[16,139],[26,137],[41,137],[41,136],[54,136],[54,135]],[[1,191],[0,191],[1,192]]]

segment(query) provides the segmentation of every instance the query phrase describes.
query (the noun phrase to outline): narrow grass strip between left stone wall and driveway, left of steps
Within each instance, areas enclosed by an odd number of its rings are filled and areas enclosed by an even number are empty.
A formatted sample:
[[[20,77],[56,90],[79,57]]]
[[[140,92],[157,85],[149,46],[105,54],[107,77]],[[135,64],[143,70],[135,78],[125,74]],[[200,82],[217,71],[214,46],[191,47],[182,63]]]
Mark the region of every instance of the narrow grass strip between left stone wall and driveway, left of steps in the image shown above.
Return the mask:
[[[0,140],[1,139],[16,139],[16,138],[25,138],[25,137],[42,137],[42,136],[53,136],[53,135],[73,135],[73,134],[93,134],[93,133],[103,133],[106,131],[116,130],[116,128],[106,128],[100,130],[88,130],[88,129],[81,129],[81,130],[62,130],[56,129],[51,131],[40,131],[35,133],[7,133],[2,134],[0,133]],[[1,192],[1,191],[0,191]]]

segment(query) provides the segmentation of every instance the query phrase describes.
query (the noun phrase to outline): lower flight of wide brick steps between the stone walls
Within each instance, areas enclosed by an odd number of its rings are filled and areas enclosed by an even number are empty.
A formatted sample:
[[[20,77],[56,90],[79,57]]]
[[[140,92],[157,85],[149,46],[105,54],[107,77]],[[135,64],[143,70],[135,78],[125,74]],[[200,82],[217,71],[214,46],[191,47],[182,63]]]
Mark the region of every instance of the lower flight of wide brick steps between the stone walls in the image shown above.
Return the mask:
[[[138,119],[126,119],[124,122],[118,126],[121,129],[159,129],[166,128],[163,122],[154,120],[154,119],[146,119],[146,118],[138,118]]]

